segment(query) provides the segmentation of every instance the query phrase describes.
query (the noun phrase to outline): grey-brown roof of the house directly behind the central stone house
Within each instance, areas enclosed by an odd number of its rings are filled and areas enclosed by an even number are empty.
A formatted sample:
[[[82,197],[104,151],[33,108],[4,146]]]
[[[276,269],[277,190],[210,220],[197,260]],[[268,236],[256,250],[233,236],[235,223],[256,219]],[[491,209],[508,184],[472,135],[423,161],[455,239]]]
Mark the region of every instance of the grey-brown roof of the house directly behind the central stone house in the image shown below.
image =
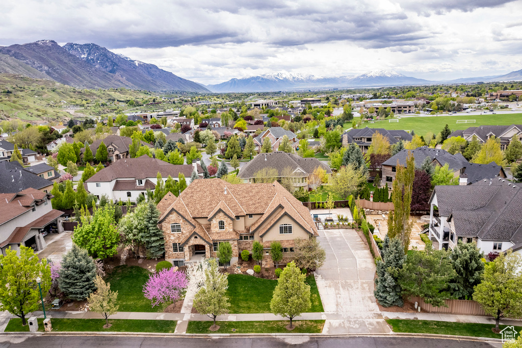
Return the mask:
[[[292,173],[298,171],[303,173],[303,176],[312,174],[317,167],[321,167],[326,170],[326,173],[331,174],[330,167],[314,157],[302,158],[293,153],[275,151],[256,155],[254,159],[241,167],[238,177],[242,179],[253,178],[255,173],[264,168],[274,168],[279,176],[282,176],[287,167],[290,168]]]

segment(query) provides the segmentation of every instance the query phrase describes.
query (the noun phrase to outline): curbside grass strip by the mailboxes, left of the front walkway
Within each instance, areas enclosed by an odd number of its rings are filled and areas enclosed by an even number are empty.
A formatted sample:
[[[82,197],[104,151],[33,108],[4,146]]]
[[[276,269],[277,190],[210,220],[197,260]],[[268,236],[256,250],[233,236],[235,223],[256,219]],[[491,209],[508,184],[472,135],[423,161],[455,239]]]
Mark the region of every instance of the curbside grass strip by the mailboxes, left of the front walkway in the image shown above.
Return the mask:
[[[51,319],[53,331],[100,331],[100,332],[161,332],[173,333],[176,321],[109,319],[112,326],[104,329],[105,319]],[[6,332],[29,332],[29,325],[22,326],[22,319],[10,319]],[[38,331],[44,331],[43,319],[38,319]]]

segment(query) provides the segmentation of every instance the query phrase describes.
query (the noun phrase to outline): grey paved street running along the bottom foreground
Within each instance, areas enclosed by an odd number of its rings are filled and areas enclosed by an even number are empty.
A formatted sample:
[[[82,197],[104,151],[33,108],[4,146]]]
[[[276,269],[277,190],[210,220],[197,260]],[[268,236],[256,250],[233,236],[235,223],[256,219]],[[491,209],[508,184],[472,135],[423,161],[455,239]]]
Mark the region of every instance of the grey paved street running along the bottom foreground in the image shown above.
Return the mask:
[[[277,348],[299,346],[305,348],[346,348],[346,347],[400,347],[400,348],[500,348],[500,343],[490,344],[480,341],[458,339],[433,339],[416,337],[309,337],[284,335],[279,337],[169,337],[169,336],[112,336],[112,335],[2,335],[1,347],[255,347]]]

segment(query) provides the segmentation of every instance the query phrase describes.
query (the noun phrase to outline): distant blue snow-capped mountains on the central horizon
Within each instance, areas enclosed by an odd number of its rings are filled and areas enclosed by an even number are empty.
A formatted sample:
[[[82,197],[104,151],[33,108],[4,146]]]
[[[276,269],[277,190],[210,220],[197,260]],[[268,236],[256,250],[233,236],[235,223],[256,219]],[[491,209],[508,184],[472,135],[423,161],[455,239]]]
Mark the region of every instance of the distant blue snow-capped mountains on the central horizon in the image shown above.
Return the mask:
[[[393,70],[374,70],[357,76],[316,77],[281,71],[277,74],[231,79],[208,85],[213,92],[264,92],[310,88],[347,88],[421,85],[428,80],[408,77]]]

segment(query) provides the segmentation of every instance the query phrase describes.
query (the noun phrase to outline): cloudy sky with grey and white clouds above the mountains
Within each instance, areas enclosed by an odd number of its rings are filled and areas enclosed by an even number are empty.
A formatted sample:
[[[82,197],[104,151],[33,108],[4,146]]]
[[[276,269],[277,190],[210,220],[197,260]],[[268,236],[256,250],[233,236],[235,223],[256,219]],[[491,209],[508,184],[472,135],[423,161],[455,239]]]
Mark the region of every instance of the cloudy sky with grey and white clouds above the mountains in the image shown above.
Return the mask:
[[[433,80],[522,69],[522,1],[4,0],[0,45],[97,43],[201,83],[392,69]]]

